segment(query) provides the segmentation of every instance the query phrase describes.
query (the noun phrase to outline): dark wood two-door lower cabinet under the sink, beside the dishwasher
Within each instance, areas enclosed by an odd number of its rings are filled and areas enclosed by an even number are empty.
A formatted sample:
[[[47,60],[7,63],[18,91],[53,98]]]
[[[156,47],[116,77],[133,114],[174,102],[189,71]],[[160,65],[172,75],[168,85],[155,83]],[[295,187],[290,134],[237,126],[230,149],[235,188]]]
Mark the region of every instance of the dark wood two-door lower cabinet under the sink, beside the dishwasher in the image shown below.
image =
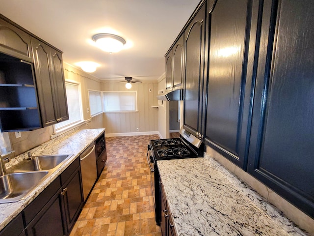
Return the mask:
[[[82,206],[77,159],[23,211],[27,236],[69,235]]]

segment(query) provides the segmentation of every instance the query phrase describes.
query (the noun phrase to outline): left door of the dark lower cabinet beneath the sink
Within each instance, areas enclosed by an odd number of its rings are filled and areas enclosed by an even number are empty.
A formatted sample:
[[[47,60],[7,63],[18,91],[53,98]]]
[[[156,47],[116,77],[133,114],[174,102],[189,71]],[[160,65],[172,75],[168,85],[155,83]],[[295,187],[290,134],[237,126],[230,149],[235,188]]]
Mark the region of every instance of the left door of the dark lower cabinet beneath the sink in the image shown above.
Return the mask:
[[[65,216],[61,211],[62,199],[61,189],[54,194],[52,199],[42,208],[36,217],[26,227],[27,236],[65,236]]]

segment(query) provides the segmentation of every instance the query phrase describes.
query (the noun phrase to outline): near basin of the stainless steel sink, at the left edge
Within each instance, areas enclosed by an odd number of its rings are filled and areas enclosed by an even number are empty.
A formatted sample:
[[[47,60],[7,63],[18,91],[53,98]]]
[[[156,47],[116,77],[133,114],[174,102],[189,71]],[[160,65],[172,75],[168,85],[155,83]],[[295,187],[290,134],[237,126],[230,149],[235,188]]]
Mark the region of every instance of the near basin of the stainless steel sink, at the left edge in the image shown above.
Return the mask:
[[[47,174],[48,171],[37,171],[0,176],[0,203],[23,199]]]

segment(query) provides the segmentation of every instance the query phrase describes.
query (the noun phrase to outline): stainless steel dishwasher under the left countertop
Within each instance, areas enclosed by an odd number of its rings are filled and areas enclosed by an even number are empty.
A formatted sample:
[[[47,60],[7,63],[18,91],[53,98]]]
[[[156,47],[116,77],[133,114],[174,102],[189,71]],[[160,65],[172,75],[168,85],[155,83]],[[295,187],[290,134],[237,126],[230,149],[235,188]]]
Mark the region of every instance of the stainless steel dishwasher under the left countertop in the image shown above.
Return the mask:
[[[95,144],[91,144],[79,156],[84,202],[97,179]]]

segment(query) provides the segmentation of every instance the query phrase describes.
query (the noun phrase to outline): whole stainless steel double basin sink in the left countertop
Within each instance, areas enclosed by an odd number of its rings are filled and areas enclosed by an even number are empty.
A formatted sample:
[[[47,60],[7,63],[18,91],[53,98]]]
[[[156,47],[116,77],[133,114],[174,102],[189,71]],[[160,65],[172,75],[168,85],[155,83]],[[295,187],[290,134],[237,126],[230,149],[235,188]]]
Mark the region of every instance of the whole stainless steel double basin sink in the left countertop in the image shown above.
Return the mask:
[[[0,203],[23,199],[72,155],[34,156],[9,168],[0,176]]]

